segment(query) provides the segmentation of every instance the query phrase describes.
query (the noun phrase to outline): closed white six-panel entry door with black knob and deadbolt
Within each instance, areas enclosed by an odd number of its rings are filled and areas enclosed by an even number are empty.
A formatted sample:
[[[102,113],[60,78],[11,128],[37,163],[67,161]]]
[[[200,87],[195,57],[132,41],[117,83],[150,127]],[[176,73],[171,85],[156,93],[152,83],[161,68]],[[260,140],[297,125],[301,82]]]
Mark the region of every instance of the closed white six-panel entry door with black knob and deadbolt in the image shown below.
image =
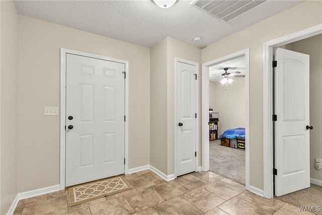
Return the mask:
[[[66,54],[65,186],[124,173],[124,71]]]

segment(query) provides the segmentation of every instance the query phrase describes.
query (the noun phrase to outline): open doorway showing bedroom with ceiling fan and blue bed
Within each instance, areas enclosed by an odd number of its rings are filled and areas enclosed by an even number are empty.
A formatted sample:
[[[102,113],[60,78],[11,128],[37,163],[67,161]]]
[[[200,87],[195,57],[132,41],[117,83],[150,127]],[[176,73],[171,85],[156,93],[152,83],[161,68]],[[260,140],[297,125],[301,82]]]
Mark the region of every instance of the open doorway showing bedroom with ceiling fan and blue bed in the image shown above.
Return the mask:
[[[209,171],[245,185],[245,55],[209,67]]]

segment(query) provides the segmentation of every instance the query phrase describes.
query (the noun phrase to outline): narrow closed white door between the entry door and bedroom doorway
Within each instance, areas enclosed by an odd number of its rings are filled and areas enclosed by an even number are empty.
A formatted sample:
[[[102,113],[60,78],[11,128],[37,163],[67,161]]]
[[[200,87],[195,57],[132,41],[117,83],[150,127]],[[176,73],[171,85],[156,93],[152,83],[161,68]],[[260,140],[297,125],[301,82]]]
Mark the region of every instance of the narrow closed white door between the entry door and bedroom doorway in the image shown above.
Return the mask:
[[[196,171],[198,65],[177,62],[177,176]]]

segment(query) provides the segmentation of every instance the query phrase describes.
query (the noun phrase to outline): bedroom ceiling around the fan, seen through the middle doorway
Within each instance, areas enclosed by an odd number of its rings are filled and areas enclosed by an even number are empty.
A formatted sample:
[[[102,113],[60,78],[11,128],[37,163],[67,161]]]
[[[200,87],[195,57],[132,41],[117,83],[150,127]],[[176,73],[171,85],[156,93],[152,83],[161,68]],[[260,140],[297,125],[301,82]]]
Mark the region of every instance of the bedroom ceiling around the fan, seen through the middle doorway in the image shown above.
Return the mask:
[[[246,75],[245,55],[242,55],[240,57],[235,57],[209,67],[209,81],[210,82],[221,81],[222,78],[214,75],[221,75],[225,73],[225,70],[223,68],[228,68],[227,73],[230,73],[230,74],[234,73],[235,71],[239,71],[240,72],[240,74],[238,74],[239,76]],[[243,79],[243,78],[236,78],[236,79]]]

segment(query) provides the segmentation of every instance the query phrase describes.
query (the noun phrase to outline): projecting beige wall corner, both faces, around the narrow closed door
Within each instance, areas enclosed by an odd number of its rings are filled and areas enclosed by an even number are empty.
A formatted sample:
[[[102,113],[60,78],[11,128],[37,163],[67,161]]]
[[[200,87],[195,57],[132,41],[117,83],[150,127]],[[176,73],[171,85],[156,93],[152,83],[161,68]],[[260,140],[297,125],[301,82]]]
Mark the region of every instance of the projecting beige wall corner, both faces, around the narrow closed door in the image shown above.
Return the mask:
[[[150,164],[166,175],[174,174],[175,165],[175,57],[200,64],[201,49],[171,37],[151,48]]]

